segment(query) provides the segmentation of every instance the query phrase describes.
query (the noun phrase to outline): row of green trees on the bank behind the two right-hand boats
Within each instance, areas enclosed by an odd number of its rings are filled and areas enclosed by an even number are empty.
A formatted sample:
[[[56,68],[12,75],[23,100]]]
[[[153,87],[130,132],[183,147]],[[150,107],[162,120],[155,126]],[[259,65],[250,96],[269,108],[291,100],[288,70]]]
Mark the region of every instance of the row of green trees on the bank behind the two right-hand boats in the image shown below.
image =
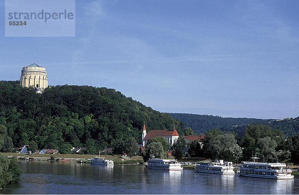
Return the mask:
[[[248,125],[241,138],[235,132],[217,128],[208,130],[205,135],[203,146],[198,141],[190,143],[190,156],[234,162],[248,161],[256,156],[263,162],[292,159],[294,163],[299,163],[299,135],[286,138],[283,131],[267,125]]]

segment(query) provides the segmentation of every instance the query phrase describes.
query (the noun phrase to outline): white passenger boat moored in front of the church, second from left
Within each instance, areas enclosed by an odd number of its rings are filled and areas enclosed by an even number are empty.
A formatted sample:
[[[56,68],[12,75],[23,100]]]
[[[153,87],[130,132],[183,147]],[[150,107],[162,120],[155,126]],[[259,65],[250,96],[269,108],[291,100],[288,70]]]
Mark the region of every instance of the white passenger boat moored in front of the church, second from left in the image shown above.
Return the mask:
[[[149,159],[147,167],[149,169],[161,170],[182,170],[180,163],[177,160],[168,159]]]

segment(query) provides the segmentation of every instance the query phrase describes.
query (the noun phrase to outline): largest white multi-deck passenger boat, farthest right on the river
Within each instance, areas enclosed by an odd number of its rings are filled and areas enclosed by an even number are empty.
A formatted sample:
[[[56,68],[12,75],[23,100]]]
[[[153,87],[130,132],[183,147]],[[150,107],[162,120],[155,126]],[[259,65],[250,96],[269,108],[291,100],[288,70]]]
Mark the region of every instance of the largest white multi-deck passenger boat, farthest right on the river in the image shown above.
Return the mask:
[[[285,163],[258,163],[255,162],[257,157],[253,157],[254,162],[243,162],[243,166],[239,168],[239,175],[255,178],[268,179],[294,179],[291,175],[292,169],[287,169]]]

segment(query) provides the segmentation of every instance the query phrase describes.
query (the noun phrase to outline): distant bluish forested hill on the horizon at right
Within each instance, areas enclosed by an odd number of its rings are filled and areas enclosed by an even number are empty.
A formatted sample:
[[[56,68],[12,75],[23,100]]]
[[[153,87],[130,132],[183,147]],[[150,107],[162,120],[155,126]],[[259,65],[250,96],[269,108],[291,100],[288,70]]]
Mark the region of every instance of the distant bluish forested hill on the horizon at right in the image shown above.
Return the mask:
[[[185,127],[191,127],[196,133],[204,133],[212,128],[220,128],[224,131],[235,131],[242,136],[248,124],[261,123],[269,125],[272,129],[279,129],[288,135],[299,133],[299,117],[281,120],[256,119],[256,118],[232,118],[200,114],[168,113],[171,117],[184,123]]]

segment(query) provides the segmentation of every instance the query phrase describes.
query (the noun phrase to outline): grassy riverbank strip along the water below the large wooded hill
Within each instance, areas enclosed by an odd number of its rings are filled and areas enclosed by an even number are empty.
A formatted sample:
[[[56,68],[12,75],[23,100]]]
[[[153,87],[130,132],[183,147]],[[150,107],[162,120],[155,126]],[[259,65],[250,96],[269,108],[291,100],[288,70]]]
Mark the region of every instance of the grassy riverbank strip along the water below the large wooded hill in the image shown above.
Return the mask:
[[[19,153],[0,153],[8,158],[15,157],[20,160],[37,160],[37,161],[49,161],[56,160],[59,162],[77,162],[86,161],[87,159],[92,159],[96,155],[88,154],[19,154]],[[121,165],[135,165],[143,164],[143,158],[141,156],[122,157],[118,155],[101,155],[101,157],[106,159],[112,159],[114,164]]]

